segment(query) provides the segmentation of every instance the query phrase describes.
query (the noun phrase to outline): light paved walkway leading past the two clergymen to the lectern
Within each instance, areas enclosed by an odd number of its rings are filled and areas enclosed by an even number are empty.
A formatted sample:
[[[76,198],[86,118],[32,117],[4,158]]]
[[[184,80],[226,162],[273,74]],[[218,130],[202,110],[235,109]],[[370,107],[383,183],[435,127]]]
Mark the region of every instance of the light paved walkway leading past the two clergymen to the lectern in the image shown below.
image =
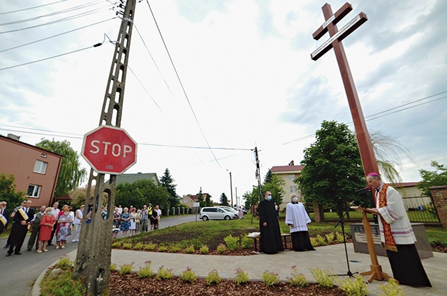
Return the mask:
[[[369,270],[371,261],[369,254],[360,254],[353,251],[353,244],[347,244],[349,255],[349,266],[351,272],[365,272]],[[422,260],[425,272],[432,283],[433,288],[411,288],[402,285],[404,295],[447,295],[447,254],[433,252],[434,257]],[[74,259],[75,251],[70,254]],[[307,281],[314,281],[310,269],[320,267],[330,270],[334,274],[346,274],[348,267],[343,244],[335,244],[327,247],[317,247],[316,251],[284,251],[279,254],[267,255],[257,254],[253,256],[214,256],[214,255],[188,255],[156,253],[146,251],[124,251],[112,250],[112,263],[117,267],[123,264],[133,264],[133,270],[137,271],[146,261],[152,262],[152,270],[156,272],[159,267],[171,268],[175,275],[179,275],[191,267],[197,276],[207,276],[211,270],[217,270],[219,275],[225,279],[233,279],[235,270],[242,268],[249,274],[250,279],[261,279],[261,274],[268,270],[279,274],[281,280],[291,276],[291,267],[297,266],[298,272],[305,275]],[[378,256],[379,264],[383,272],[393,275],[388,263],[388,258]],[[409,271],[410,272],[410,271]],[[345,276],[341,276],[345,277]],[[367,280],[367,276],[365,276]],[[385,281],[373,281],[368,284],[369,295],[381,295],[379,286]]]

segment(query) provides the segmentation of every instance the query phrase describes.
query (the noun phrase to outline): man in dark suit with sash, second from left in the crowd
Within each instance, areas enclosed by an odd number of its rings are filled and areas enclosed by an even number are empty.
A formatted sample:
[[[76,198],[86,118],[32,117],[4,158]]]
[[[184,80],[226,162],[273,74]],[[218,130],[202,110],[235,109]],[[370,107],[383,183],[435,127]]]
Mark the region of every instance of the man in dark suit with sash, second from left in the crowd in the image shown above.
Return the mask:
[[[31,201],[22,201],[22,205],[18,207],[11,217],[13,217],[13,228],[11,228],[11,233],[8,240],[10,241],[10,246],[7,257],[11,254],[22,255],[20,253],[20,248],[22,248],[23,241],[28,232],[28,224],[34,217],[34,210],[30,209]]]

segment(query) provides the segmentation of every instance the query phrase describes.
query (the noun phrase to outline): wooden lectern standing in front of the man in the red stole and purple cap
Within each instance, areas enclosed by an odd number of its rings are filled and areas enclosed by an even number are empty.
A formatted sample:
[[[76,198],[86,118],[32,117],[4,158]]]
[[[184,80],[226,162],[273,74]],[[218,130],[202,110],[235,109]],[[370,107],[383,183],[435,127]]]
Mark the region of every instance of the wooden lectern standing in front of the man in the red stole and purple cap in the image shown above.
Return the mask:
[[[373,214],[373,212],[371,212],[368,209],[358,207],[358,206],[353,206],[353,207],[351,207],[351,209],[357,210],[358,212],[363,213],[362,223],[363,223],[363,228],[365,228],[365,235],[366,235],[366,241],[367,241],[367,245],[368,245],[369,258],[371,258],[371,265],[369,265],[371,267],[371,270],[369,270],[367,272],[360,272],[360,275],[361,276],[369,276],[369,279],[368,279],[369,283],[372,283],[372,281],[374,281],[374,279],[376,279],[378,281],[382,281],[383,279],[386,279],[387,281],[388,281],[388,279],[393,279],[393,277],[389,276],[388,274],[386,274],[385,272],[382,271],[382,267],[381,267],[381,265],[379,265],[379,261],[377,260],[376,248],[374,247],[374,240],[372,239],[371,226],[369,225],[369,221],[366,217],[367,212],[369,212],[370,214]]]

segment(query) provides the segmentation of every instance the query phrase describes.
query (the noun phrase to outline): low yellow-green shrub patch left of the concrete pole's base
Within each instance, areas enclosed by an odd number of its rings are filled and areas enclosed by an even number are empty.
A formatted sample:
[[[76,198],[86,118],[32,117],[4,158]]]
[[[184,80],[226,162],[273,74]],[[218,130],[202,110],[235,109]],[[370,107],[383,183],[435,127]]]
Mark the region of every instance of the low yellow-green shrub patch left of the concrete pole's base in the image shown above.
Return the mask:
[[[60,274],[49,276],[49,270],[41,281],[40,295],[83,296],[85,286],[80,280],[73,279],[73,270],[63,270]]]

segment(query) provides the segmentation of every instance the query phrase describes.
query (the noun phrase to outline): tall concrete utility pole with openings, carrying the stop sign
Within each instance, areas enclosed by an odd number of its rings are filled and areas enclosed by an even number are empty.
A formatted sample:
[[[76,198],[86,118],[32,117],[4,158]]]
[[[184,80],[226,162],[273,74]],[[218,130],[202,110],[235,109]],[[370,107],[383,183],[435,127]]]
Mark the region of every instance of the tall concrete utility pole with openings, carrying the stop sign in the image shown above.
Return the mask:
[[[135,15],[136,0],[127,0],[122,23],[119,29],[115,52],[103,101],[99,125],[121,126],[126,86],[127,63]],[[109,295],[110,258],[112,256],[112,217],[115,208],[115,175],[110,175],[108,184],[104,182],[104,173],[90,170],[85,198],[85,210],[82,219],[80,242],[75,262],[75,276],[87,280],[87,295]],[[92,185],[95,186],[94,197],[90,198]],[[107,204],[107,216],[101,208]],[[88,205],[88,206],[87,206]],[[90,217],[88,217],[90,215]],[[87,219],[90,222],[87,224]]]

